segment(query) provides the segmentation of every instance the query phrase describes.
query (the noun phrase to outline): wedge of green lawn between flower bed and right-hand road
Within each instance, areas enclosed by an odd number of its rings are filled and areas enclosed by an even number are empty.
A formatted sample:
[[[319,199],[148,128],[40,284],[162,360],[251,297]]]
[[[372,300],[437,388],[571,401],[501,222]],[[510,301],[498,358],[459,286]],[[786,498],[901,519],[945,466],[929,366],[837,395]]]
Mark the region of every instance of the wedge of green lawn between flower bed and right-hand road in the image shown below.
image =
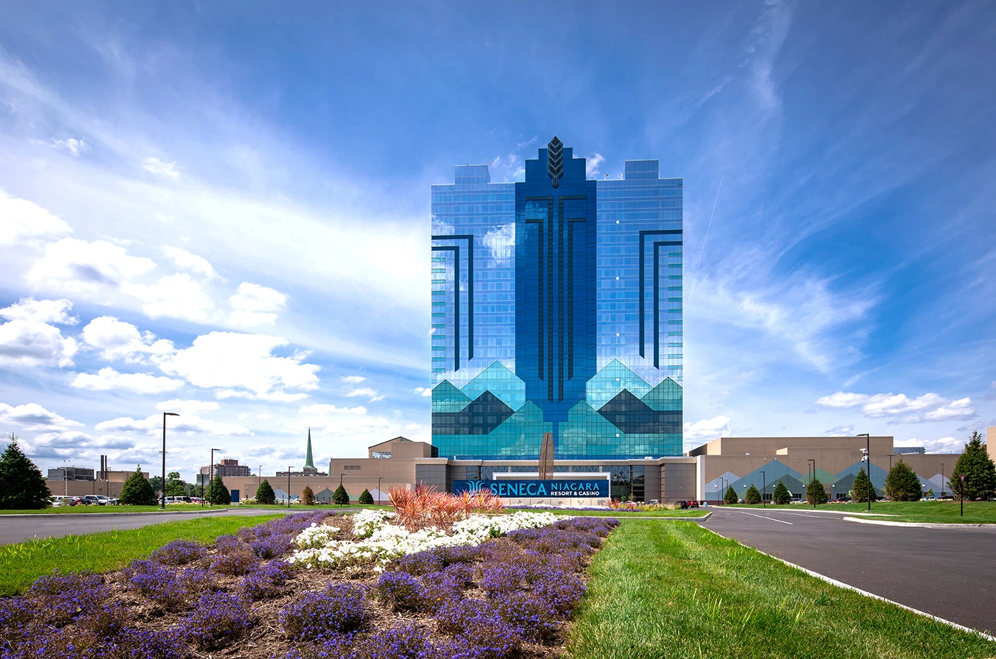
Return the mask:
[[[627,521],[590,567],[571,656],[921,659],[996,643],[826,583],[695,524]]]

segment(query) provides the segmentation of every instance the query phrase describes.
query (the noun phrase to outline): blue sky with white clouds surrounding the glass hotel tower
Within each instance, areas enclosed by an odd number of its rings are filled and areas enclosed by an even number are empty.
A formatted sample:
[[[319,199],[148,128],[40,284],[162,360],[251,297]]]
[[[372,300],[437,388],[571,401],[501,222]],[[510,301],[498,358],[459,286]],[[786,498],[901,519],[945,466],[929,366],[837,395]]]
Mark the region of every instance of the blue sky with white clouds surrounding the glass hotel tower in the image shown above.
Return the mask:
[[[0,430],[272,473],[428,437],[431,183],[684,177],[686,446],[996,425],[986,3],[0,2]],[[711,221],[710,221],[711,218]]]

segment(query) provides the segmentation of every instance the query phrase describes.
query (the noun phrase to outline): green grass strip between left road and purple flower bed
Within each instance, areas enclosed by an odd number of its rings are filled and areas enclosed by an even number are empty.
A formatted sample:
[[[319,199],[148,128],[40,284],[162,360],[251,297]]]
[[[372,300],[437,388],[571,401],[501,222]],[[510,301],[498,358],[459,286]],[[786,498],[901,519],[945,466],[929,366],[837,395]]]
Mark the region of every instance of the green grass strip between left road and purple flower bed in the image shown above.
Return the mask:
[[[129,531],[104,531],[85,536],[45,538],[0,546],[0,595],[24,590],[36,578],[53,569],[106,572],[119,569],[133,558],[143,558],[169,541],[197,540],[205,543],[233,534],[242,527],[269,522],[277,515],[215,517],[163,522]]]

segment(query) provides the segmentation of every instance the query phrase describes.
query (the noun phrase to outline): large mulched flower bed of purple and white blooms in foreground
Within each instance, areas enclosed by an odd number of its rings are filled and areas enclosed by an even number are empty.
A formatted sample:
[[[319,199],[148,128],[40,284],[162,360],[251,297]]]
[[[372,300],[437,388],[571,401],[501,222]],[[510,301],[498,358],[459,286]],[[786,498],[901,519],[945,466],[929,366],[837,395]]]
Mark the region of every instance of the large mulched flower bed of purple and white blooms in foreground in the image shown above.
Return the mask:
[[[618,525],[516,513],[443,533],[392,521],[290,515],[212,546],[170,543],[118,572],[43,577],[0,600],[0,659],[550,656]],[[346,545],[370,549],[320,558]]]

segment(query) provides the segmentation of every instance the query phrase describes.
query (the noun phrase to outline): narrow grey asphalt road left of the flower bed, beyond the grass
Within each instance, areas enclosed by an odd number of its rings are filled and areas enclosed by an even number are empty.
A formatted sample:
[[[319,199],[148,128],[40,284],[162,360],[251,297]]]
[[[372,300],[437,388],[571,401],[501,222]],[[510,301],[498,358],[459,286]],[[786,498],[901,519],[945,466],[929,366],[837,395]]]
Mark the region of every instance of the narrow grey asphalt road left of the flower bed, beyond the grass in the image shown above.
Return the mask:
[[[113,513],[100,515],[0,515],[0,545],[21,543],[30,538],[59,538],[69,535],[92,534],[115,529],[138,529],[150,524],[173,520],[199,520],[224,515],[266,515],[271,511],[261,509],[219,508],[200,513]]]

